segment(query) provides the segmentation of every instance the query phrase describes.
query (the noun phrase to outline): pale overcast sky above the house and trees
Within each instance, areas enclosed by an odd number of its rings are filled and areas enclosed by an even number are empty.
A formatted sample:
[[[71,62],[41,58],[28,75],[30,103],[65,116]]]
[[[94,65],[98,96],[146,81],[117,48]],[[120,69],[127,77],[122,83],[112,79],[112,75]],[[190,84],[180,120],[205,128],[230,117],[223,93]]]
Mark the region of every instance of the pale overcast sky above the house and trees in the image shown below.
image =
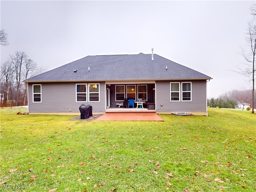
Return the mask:
[[[88,55],[151,54],[202,72],[208,98],[250,89],[243,67],[255,1],[0,1],[1,64],[24,51],[54,69]]]

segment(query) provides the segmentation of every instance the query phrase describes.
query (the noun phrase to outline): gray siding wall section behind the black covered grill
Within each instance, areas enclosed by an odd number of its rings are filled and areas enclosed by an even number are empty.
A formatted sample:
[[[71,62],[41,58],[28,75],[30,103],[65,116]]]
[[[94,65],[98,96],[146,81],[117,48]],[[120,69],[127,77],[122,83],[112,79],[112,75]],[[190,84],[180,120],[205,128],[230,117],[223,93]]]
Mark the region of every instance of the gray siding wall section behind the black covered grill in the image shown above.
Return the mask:
[[[100,102],[76,102],[76,84],[100,84]],[[34,83],[40,84],[40,83]],[[28,85],[28,107],[30,113],[37,112],[80,112],[79,106],[83,103],[92,106],[92,112],[105,112],[105,82],[56,82],[41,83],[42,102],[33,102],[32,85]],[[88,86],[87,86],[88,100]]]

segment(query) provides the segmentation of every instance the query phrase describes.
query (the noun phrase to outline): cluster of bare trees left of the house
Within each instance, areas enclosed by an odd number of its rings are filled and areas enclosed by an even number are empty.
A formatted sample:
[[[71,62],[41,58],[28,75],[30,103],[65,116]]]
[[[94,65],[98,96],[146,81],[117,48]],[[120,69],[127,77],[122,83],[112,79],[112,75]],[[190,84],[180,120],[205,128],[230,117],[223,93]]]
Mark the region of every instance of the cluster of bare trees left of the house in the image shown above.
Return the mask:
[[[40,71],[25,52],[16,51],[1,64],[0,90],[1,106],[27,105],[27,85],[22,80]]]

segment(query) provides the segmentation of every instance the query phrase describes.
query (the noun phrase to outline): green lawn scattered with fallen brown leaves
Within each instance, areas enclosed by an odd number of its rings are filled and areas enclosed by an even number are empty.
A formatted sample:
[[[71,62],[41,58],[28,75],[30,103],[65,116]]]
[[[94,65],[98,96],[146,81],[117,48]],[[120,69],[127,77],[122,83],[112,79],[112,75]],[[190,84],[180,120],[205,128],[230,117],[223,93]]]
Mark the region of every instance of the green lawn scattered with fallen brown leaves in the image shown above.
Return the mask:
[[[1,108],[1,191],[256,191],[256,115],[70,121]]]

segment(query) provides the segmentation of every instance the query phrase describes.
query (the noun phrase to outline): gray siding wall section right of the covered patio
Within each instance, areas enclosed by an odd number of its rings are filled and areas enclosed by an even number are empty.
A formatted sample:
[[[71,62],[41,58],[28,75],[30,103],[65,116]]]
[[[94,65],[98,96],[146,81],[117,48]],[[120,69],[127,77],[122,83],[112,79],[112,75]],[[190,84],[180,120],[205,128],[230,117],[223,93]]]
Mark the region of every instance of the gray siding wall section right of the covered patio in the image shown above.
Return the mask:
[[[156,112],[207,112],[206,80],[180,81],[180,101],[170,101],[170,82],[156,81]],[[182,82],[192,82],[192,101],[182,101]]]

